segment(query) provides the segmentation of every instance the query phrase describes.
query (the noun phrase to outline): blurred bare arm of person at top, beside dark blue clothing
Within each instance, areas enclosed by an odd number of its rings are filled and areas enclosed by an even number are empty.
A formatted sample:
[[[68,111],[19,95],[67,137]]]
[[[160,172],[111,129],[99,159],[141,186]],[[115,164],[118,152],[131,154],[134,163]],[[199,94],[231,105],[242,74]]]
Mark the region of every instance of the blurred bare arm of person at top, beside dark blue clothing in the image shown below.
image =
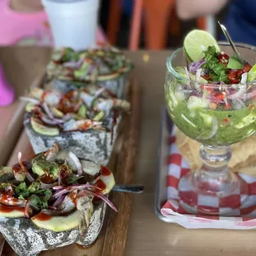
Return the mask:
[[[183,20],[216,14],[229,0],[177,0],[178,17]]]

